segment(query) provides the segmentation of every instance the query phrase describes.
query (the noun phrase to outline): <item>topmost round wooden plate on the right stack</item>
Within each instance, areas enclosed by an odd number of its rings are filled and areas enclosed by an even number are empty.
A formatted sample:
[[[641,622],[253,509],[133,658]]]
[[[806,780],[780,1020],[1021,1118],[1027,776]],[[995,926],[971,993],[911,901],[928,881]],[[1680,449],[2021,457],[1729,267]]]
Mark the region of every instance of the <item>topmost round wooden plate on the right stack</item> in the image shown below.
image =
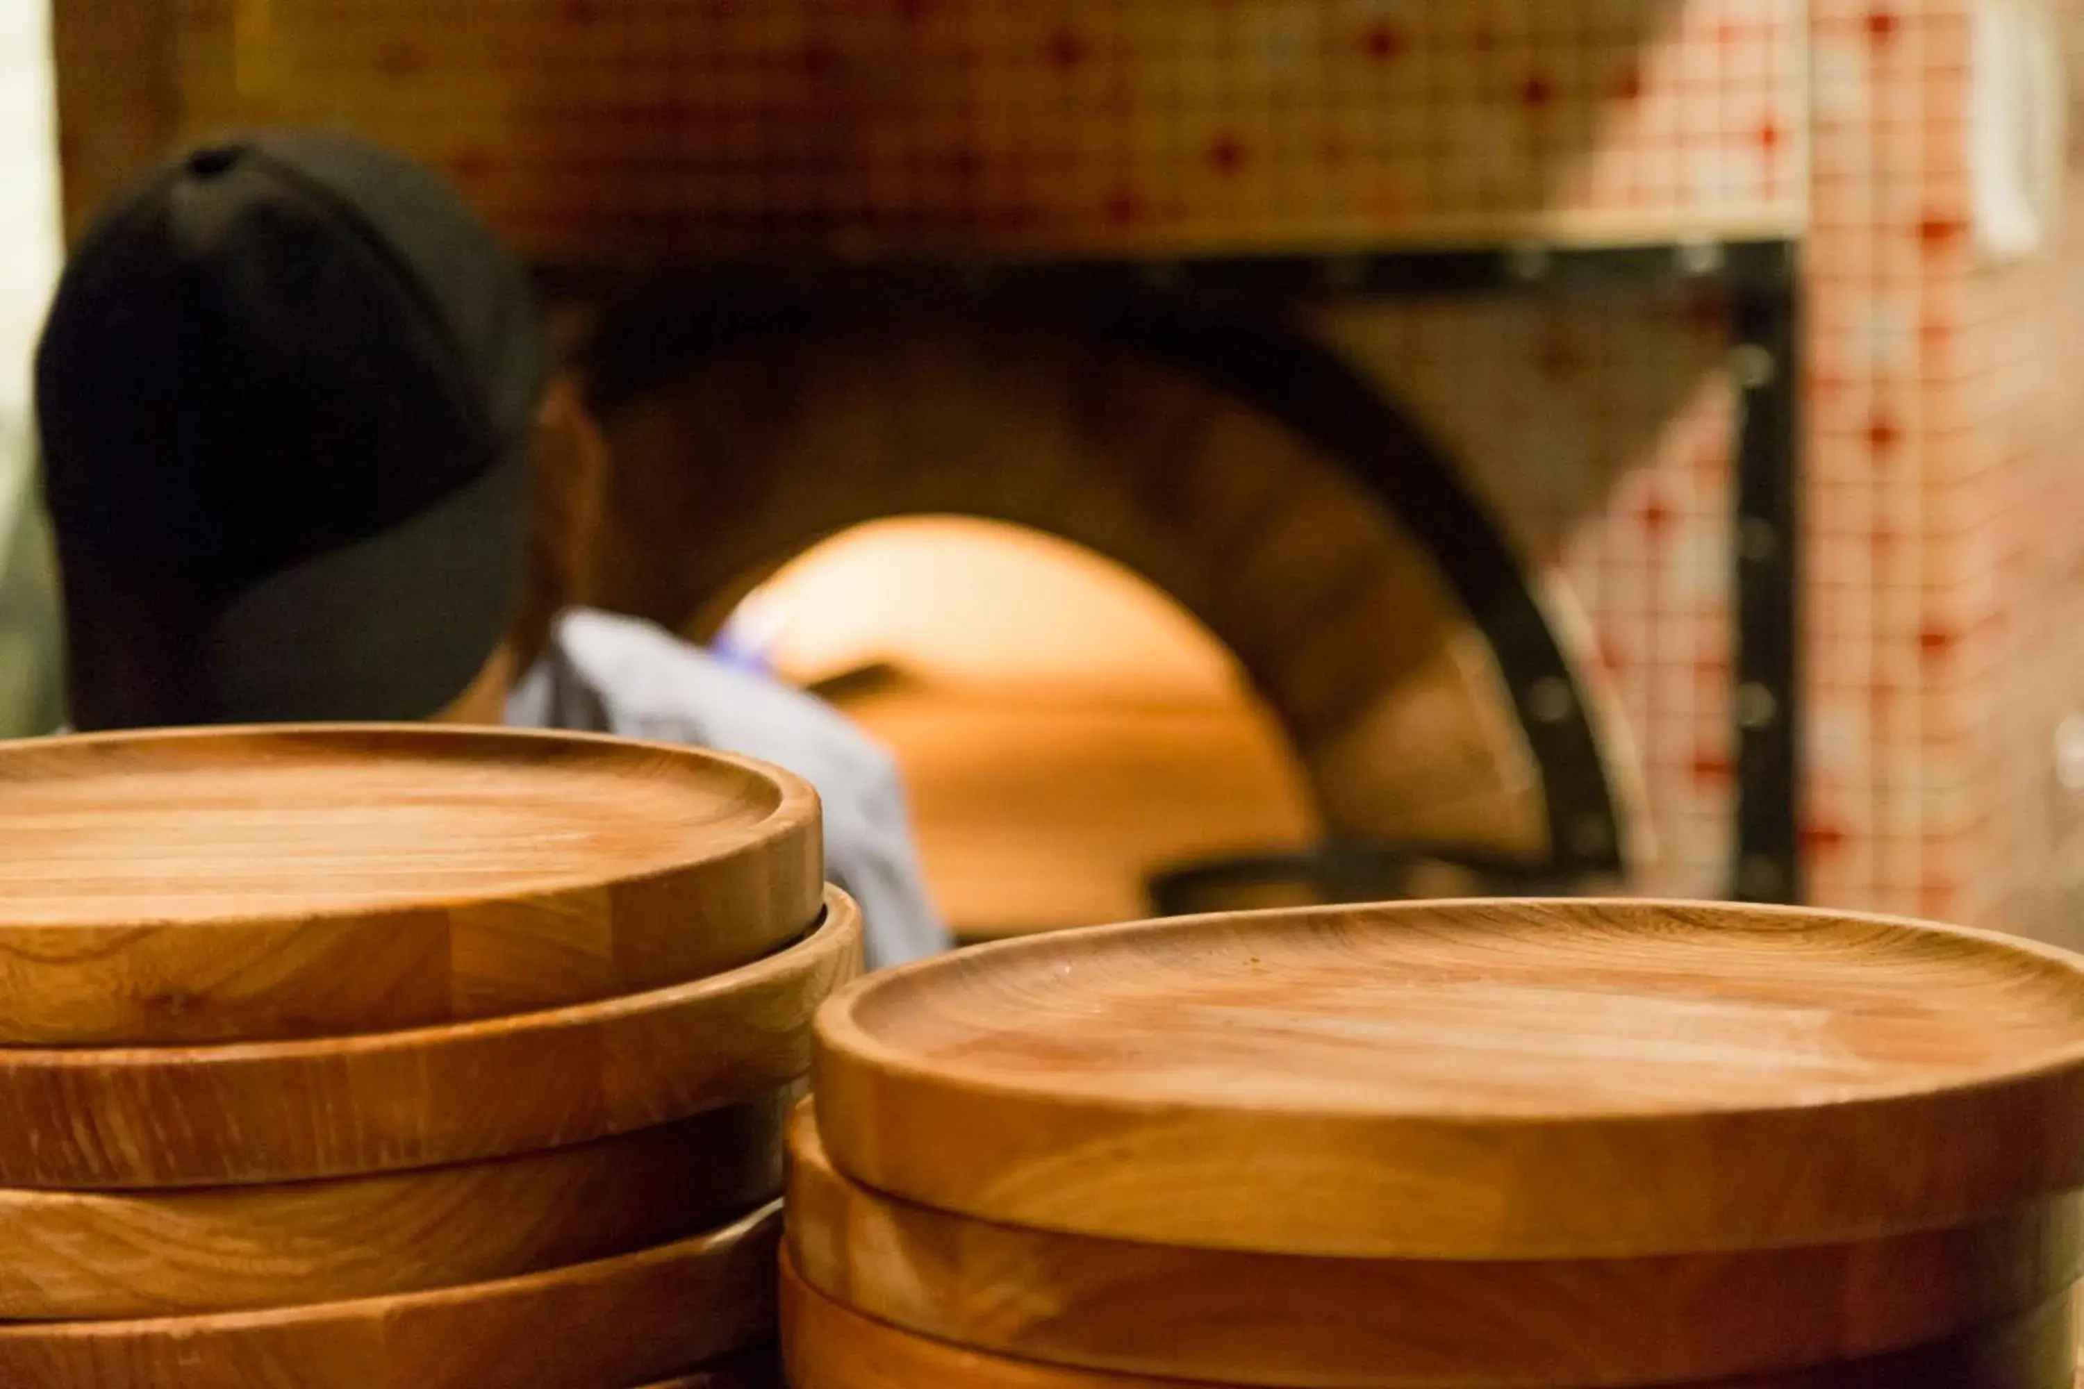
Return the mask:
[[[2084,1185],[2084,962],[1786,908],[1413,902],[1071,931],[819,1012],[842,1172],[1282,1254],[1874,1239]]]

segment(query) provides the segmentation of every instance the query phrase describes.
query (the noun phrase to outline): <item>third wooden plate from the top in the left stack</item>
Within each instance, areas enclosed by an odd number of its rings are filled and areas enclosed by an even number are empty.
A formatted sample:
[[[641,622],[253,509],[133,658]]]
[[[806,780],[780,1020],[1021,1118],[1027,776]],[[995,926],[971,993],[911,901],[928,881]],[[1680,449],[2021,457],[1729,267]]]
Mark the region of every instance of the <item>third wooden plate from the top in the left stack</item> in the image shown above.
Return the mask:
[[[0,1318],[138,1318],[508,1279],[782,1193],[794,1087],[519,1158],[267,1187],[0,1191]]]

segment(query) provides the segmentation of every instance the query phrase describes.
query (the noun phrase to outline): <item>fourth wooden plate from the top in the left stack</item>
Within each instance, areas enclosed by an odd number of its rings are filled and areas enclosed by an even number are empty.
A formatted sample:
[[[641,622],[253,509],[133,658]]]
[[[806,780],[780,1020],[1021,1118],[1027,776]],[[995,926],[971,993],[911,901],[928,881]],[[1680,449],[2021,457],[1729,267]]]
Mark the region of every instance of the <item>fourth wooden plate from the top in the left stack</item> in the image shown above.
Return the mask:
[[[679,1243],[500,1283],[273,1312],[0,1327],[35,1389],[600,1389],[773,1337],[782,1204]]]

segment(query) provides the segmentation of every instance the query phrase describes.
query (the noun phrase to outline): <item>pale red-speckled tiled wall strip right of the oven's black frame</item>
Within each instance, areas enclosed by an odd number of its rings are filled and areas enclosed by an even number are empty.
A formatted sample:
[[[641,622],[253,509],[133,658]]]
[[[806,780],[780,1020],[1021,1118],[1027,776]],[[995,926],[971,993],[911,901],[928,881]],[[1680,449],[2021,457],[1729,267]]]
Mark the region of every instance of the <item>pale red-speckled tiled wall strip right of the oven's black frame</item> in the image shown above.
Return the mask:
[[[1971,15],[1815,4],[1805,839],[1824,902],[2084,943],[2084,167],[2040,254],[1978,252]]]

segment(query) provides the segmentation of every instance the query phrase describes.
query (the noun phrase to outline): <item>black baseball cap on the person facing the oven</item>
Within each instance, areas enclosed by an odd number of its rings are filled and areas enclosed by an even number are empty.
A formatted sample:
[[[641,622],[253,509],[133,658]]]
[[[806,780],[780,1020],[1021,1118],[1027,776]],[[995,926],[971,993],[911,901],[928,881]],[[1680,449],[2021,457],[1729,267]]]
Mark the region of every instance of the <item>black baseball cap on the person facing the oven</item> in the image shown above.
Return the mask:
[[[35,358],[75,718],[450,704],[519,596],[544,371],[525,275],[411,160],[260,131],[144,179]]]

